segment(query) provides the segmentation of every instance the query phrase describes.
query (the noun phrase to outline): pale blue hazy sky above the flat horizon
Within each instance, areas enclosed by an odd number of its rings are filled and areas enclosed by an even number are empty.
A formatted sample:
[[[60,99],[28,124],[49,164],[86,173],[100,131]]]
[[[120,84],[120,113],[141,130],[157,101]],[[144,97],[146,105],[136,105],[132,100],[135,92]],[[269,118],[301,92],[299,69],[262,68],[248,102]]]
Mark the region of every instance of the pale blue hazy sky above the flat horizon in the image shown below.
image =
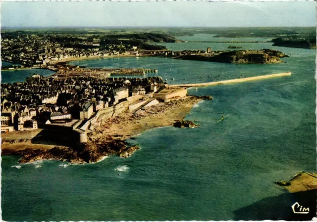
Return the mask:
[[[2,27],[315,26],[315,1],[7,1]]]

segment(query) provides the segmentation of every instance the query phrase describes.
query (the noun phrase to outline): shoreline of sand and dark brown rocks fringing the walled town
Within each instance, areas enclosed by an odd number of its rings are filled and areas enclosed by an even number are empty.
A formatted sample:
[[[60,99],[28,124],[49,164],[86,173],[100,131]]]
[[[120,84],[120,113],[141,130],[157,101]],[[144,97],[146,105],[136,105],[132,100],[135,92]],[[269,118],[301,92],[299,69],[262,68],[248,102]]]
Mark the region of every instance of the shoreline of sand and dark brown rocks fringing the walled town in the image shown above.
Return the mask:
[[[67,161],[73,164],[95,163],[106,156],[116,155],[120,158],[128,158],[134,152],[140,149],[138,145],[130,145],[125,140],[131,138],[131,135],[142,133],[145,130],[162,126],[174,127],[197,127],[192,121],[184,121],[184,117],[190,111],[194,104],[200,100],[212,100],[211,96],[188,96],[171,100],[168,103],[160,103],[157,106],[149,107],[139,114],[130,113],[128,110],[119,116],[103,121],[101,127],[95,132],[89,134],[89,141],[86,143],[74,144],[72,147],[54,146],[53,148],[26,149],[10,148],[4,150],[6,155],[19,155],[20,164],[31,163],[39,160],[57,160]],[[132,137],[132,139],[135,137]],[[11,145],[27,141],[12,141]]]

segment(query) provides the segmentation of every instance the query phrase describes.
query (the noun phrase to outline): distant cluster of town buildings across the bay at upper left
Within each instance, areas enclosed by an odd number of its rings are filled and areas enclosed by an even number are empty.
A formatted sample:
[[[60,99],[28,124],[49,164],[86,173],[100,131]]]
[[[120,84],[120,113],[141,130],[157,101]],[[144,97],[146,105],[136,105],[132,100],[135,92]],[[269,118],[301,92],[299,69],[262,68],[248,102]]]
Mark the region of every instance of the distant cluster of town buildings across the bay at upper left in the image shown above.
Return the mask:
[[[111,42],[101,44],[100,39],[87,35],[76,38],[35,34],[4,36],[1,38],[1,47],[2,60],[28,67],[47,67],[68,58],[138,54],[137,46]]]

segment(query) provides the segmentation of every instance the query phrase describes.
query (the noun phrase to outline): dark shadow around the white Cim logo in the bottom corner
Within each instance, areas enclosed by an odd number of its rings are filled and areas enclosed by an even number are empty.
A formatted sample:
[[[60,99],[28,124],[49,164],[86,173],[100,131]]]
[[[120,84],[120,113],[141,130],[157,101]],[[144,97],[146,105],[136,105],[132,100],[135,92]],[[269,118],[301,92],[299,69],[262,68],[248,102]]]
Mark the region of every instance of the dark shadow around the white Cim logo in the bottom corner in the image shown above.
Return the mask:
[[[284,193],[275,197],[264,198],[250,206],[234,212],[235,221],[311,221],[316,217],[317,190],[298,193]],[[292,205],[298,202],[301,206],[309,207],[308,214],[294,214]]]

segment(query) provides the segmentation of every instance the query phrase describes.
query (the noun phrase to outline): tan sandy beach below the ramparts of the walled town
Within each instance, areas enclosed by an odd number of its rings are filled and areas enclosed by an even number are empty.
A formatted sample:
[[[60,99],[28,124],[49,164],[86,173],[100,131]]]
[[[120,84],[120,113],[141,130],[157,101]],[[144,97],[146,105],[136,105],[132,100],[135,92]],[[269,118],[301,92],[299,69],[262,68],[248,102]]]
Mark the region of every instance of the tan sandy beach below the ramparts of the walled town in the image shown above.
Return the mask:
[[[189,96],[147,107],[136,114],[127,110],[117,117],[102,121],[101,126],[89,136],[93,140],[101,137],[116,137],[125,140],[146,130],[173,126],[175,121],[183,120],[200,100],[200,98]]]

